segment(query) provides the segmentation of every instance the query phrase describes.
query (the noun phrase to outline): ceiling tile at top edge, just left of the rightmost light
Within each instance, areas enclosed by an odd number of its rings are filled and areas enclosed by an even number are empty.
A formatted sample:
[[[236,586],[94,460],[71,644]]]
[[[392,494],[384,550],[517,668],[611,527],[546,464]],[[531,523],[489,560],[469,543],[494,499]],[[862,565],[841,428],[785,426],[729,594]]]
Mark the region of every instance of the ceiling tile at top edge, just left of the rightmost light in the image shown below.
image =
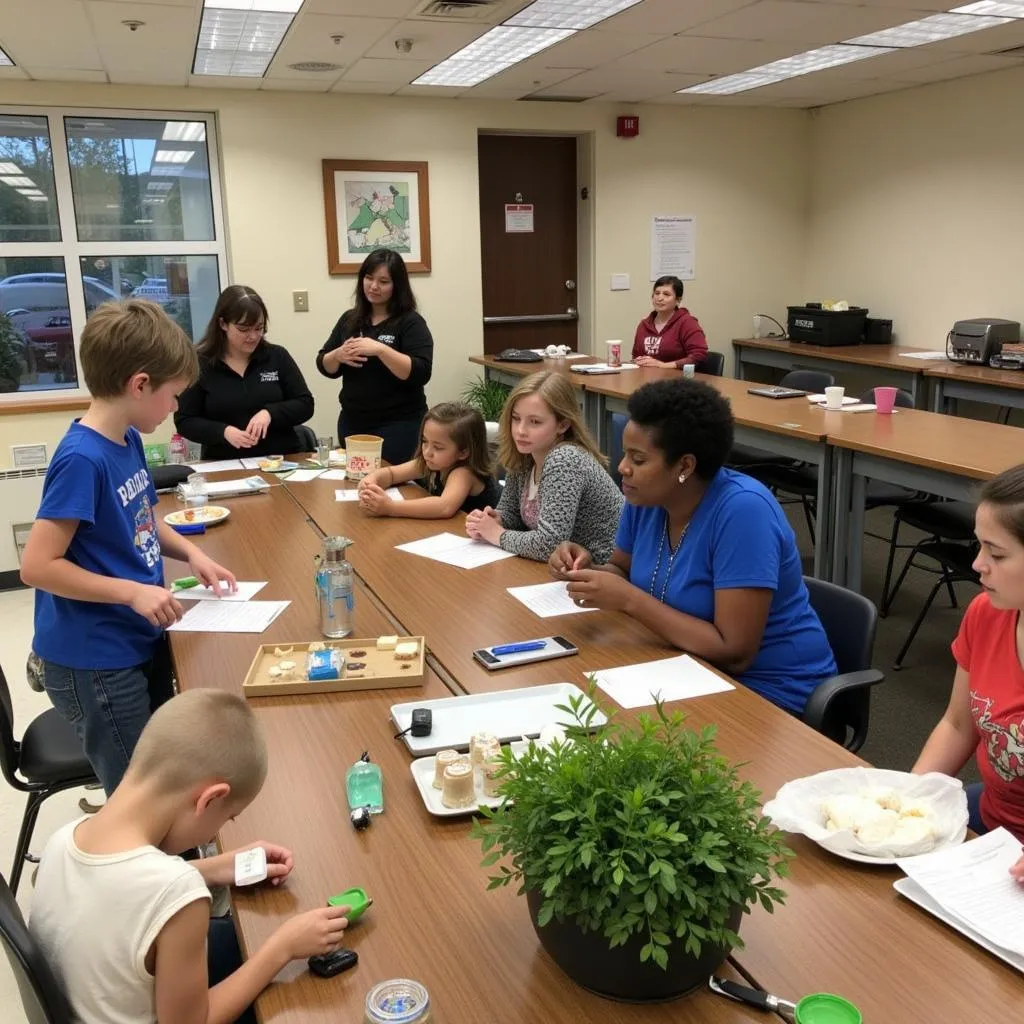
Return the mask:
[[[912,15],[911,15],[912,19]],[[848,7],[793,0],[761,0],[724,17],[706,22],[692,36],[762,39],[796,43],[797,50],[825,46],[853,36],[889,29],[908,20],[906,11],[887,7]]]

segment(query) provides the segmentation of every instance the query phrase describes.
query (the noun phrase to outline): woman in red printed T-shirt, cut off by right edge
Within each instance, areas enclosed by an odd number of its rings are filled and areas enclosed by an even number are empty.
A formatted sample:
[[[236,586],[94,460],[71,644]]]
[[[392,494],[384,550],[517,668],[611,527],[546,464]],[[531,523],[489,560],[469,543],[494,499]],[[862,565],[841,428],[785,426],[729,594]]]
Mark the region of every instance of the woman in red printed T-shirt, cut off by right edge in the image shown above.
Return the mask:
[[[967,791],[971,828],[1001,825],[1024,843],[1024,465],[982,487],[975,534],[982,593],[953,641],[949,707],[913,770],[955,775],[975,754],[982,781]],[[1024,856],[1012,871],[1024,882]]]

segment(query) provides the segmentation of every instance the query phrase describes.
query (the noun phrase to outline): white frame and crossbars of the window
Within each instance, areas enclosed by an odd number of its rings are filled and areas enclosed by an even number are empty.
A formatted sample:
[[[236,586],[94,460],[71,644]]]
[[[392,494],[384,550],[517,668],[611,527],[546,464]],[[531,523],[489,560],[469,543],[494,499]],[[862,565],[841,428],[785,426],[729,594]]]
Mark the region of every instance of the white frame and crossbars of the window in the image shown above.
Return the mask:
[[[39,256],[62,259],[68,287],[68,308],[71,314],[75,346],[75,364],[79,384],[74,388],[45,388],[32,391],[0,393],[0,415],[9,412],[31,412],[33,407],[84,406],[90,395],[82,376],[79,349],[82,328],[86,322],[85,286],[82,257],[131,256],[215,256],[220,287],[230,280],[227,258],[227,229],[224,223],[224,199],[220,173],[220,136],[216,114],[200,111],[125,110],[92,106],[33,106],[0,103],[0,116],[45,117],[53,159],[53,180],[57,204],[57,224],[60,240],[54,242],[2,242],[0,257]],[[71,159],[68,152],[67,118],[118,118],[126,121],[202,121],[206,125],[207,158],[210,167],[210,199],[213,205],[213,239],[206,242],[80,242],[72,193]],[[60,401],[66,399],[66,401]],[[5,407],[15,407],[6,409]],[[40,410],[42,411],[42,410]]]

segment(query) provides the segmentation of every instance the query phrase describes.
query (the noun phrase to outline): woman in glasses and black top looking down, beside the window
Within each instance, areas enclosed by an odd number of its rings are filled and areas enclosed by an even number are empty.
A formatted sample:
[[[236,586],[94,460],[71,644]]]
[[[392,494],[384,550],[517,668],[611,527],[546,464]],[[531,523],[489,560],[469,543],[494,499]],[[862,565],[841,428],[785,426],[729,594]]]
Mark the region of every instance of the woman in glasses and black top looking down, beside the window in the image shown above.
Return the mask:
[[[313,396],[286,348],[265,338],[263,300],[245,285],[220,293],[199,343],[199,380],[178,397],[174,426],[204,459],[301,451],[295,428]]]

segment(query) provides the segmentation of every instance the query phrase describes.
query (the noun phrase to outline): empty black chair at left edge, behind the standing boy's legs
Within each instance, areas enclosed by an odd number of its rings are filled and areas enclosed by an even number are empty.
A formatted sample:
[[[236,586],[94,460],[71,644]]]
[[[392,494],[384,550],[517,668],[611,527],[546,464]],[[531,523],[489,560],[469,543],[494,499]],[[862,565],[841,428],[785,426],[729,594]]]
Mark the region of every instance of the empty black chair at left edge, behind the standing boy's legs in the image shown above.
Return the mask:
[[[32,833],[43,801],[63,790],[97,781],[75,730],[54,708],[34,718],[14,739],[14,713],[7,679],[0,668],[0,770],[7,782],[29,800],[22,818],[10,869],[10,888],[17,892]]]

